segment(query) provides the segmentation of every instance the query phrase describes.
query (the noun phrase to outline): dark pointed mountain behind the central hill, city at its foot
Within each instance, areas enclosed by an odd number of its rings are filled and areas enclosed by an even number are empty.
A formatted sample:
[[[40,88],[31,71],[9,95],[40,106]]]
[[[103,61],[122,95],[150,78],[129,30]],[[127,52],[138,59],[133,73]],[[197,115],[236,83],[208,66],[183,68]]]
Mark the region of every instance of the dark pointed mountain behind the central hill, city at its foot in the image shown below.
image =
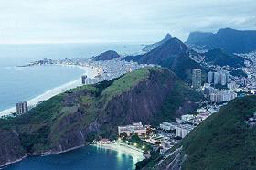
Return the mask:
[[[191,53],[197,55],[195,51],[187,48],[186,44],[173,37],[145,54],[128,56],[123,59],[133,60],[140,64],[160,65],[174,71],[182,80],[190,82],[192,69],[202,69],[203,73],[207,72],[199,63],[189,57]]]

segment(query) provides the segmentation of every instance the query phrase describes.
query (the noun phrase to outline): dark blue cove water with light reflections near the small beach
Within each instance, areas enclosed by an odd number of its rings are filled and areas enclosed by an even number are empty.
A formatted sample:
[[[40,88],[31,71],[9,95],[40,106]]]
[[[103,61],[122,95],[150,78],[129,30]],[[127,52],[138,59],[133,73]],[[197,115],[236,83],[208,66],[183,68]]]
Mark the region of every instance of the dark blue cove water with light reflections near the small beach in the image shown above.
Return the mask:
[[[129,154],[86,146],[63,154],[27,158],[6,170],[130,170],[135,168]]]

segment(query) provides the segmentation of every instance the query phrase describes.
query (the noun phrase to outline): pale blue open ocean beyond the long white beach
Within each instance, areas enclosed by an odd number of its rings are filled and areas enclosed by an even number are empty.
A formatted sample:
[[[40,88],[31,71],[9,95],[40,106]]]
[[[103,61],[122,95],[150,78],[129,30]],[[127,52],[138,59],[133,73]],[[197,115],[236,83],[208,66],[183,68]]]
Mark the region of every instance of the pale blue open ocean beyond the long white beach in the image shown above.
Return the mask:
[[[14,107],[18,101],[28,101],[47,90],[77,80],[83,73],[78,68],[61,66],[16,66],[42,58],[91,58],[109,49],[133,53],[140,48],[134,44],[0,45],[0,111]]]

